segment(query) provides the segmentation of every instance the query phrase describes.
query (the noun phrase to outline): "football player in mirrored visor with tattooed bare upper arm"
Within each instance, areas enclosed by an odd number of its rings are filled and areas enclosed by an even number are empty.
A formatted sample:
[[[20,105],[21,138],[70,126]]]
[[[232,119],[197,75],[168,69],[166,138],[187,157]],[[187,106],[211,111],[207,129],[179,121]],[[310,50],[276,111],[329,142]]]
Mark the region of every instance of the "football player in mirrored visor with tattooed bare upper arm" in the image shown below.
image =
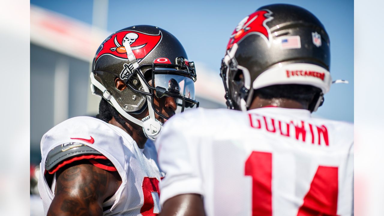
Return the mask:
[[[177,109],[199,105],[195,80],[194,63],[166,30],[138,25],[106,38],[92,63],[97,118],[68,119],[41,140],[45,214],[157,215],[164,173],[146,141]]]

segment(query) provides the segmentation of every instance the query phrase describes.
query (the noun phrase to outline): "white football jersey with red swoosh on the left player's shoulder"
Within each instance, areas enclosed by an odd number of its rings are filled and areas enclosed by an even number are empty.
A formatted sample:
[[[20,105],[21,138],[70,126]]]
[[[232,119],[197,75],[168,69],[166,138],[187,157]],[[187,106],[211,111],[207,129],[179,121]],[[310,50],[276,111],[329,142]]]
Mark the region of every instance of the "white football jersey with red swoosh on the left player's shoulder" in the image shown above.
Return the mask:
[[[103,203],[112,206],[103,215],[153,216],[160,212],[158,183],[164,173],[157,164],[157,153],[152,142],[144,150],[117,126],[96,118],[80,116],[68,119],[49,130],[41,139],[41,163],[38,188],[47,214],[55,196],[45,179],[45,162],[53,148],[66,143],[87,145],[108,158],[121,176],[118,191]]]

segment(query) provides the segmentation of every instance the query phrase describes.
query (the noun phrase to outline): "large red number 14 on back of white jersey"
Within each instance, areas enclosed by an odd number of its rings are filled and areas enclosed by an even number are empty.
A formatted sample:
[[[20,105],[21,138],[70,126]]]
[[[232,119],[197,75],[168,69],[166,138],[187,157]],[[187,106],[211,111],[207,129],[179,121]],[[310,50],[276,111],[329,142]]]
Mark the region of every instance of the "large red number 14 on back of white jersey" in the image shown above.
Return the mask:
[[[272,154],[253,151],[245,175],[252,176],[252,216],[272,216]],[[337,198],[338,168],[318,166],[297,216],[335,216]]]

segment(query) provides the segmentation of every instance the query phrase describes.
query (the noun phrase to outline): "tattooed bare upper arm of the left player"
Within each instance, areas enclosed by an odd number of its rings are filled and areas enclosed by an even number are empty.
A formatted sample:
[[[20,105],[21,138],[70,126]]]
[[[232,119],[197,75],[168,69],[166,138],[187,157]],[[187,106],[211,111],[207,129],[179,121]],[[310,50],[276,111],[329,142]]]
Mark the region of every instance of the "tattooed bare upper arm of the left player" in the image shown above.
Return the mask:
[[[47,216],[101,216],[103,202],[116,193],[118,174],[92,164],[70,164],[57,173],[55,198]]]

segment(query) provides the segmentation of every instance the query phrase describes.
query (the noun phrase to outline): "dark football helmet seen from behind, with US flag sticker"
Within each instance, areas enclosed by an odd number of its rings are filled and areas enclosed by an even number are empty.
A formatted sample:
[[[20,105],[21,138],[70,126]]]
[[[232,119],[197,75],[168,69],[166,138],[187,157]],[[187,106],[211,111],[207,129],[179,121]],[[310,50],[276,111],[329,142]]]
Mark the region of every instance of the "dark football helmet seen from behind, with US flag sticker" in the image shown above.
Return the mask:
[[[321,89],[309,107],[316,111],[332,83],[329,64],[328,34],[311,12],[287,4],[260,7],[230,36],[220,69],[227,106],[247,110],[254,90],[301,84]]]

